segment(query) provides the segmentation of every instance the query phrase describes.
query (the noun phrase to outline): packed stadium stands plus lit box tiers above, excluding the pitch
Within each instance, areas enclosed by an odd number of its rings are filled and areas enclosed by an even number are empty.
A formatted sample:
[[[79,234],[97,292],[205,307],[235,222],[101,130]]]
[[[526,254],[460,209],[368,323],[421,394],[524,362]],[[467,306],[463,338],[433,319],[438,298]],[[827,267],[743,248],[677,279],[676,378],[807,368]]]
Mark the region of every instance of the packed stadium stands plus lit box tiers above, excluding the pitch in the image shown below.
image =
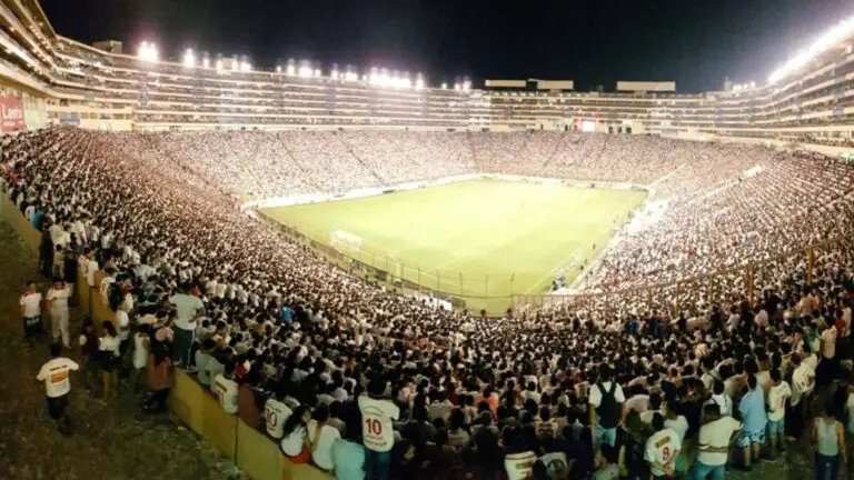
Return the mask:
[[[744,420],[749,464],[831,388],[834,414],[854,404],[854,168],[769,148],[851,146],[850,47],[703,94],[396,90],[142,62],[57,36],[33,0],[3,6],[0,73],[26,88],[2,101],[28,130],[3,137],[0,190],[41,232],[43,272],[63,272],[56,247],[80,253],[99,321],[129,311],[149,367],[173,359],[217,394],[206,411],[291,463],[586,478],[616,462],[607,443],[647,478],[723,468],[688,447],[718,416]],[[628,127],[649,134],[607,133]],[[693,141],[733,138],[748,144]],[[240,208],[475,172],[638,184],[667,208],[619,232],[582,294],[500,318],[398,296]]]

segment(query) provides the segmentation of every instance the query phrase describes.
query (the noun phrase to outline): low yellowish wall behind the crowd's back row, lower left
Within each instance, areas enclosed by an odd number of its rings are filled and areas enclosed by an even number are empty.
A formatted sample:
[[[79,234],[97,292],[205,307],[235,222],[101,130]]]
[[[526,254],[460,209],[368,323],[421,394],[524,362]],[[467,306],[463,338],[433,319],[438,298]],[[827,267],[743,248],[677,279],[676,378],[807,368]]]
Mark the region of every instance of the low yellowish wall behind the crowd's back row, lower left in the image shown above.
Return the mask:
[[[41,233],[32,228],[14,203],[0,193],[2,219],[12,227],[26,247],[38,254]],[[100,276],[96,276],[100,278]],[[78,269],[77,308],[97,324],[113,320],[97,289],[90,288],[86,272]],[[212,392],[187,372],[172,369],[173,383],[169,409],[190,430],[210,441],[224,457],[234,461],[254,480],[330,480],[334,477],[310,464],[292,464],[278,443],[247,426],[235,414],[226,413]]]

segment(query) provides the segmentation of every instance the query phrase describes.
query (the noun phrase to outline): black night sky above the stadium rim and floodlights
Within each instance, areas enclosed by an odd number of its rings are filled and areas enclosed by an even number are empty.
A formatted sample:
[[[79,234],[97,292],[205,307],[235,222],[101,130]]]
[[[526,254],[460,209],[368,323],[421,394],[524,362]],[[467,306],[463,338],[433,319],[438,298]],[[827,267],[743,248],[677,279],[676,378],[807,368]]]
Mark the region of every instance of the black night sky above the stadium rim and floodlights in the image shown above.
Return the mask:
[[[72,39],[153,40],[161,57],[247,54],[469,76],[545,78],[613,90],[674,80],[716,90],[764,82],[796,49],[854,14],[852,0],[42,0]]]

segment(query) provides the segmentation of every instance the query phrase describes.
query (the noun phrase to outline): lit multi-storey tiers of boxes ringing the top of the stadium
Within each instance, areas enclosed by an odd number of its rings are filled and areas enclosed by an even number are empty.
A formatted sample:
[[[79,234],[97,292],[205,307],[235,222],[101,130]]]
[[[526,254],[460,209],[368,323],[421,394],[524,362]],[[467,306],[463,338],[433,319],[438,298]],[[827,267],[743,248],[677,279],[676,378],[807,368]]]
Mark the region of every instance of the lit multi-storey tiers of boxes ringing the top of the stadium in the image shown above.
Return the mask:
[[[0,19],[2,104],[12,113],[21,109],[23,119],[3,120],[4,131],[49,124],[107,130],[542,129],[775,144],[806,138],[826,144],[854,132],[848,36],[834,39],[773,84],[678,94],[659,88],[672,82],[619,82],[618,92],[605,93],[572,91],[568,80],[537,81],[533,89],[416,89],[380,87],[358,76],[331,78],[329,72],[249,70],[236,60],[234,68],[214,60],[188,67],[117,53],[121,46],[116,42],[90,47],[61,37],[36,0],[2,0]],[[822,149],[828,147],[816,147]]]

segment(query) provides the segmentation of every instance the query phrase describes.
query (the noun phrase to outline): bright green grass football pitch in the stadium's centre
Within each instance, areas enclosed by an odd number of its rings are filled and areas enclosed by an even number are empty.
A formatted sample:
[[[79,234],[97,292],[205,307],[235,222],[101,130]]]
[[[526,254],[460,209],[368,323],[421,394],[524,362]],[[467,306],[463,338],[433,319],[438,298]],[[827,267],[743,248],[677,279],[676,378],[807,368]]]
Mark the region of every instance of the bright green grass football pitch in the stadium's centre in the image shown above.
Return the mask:
[[[555,271],[590,259],[645,196],[479,180],[264,212],[325,243],[337,230],[358,236],[354,257],[396,277],[506,306],[510,293],[542,293]]]

